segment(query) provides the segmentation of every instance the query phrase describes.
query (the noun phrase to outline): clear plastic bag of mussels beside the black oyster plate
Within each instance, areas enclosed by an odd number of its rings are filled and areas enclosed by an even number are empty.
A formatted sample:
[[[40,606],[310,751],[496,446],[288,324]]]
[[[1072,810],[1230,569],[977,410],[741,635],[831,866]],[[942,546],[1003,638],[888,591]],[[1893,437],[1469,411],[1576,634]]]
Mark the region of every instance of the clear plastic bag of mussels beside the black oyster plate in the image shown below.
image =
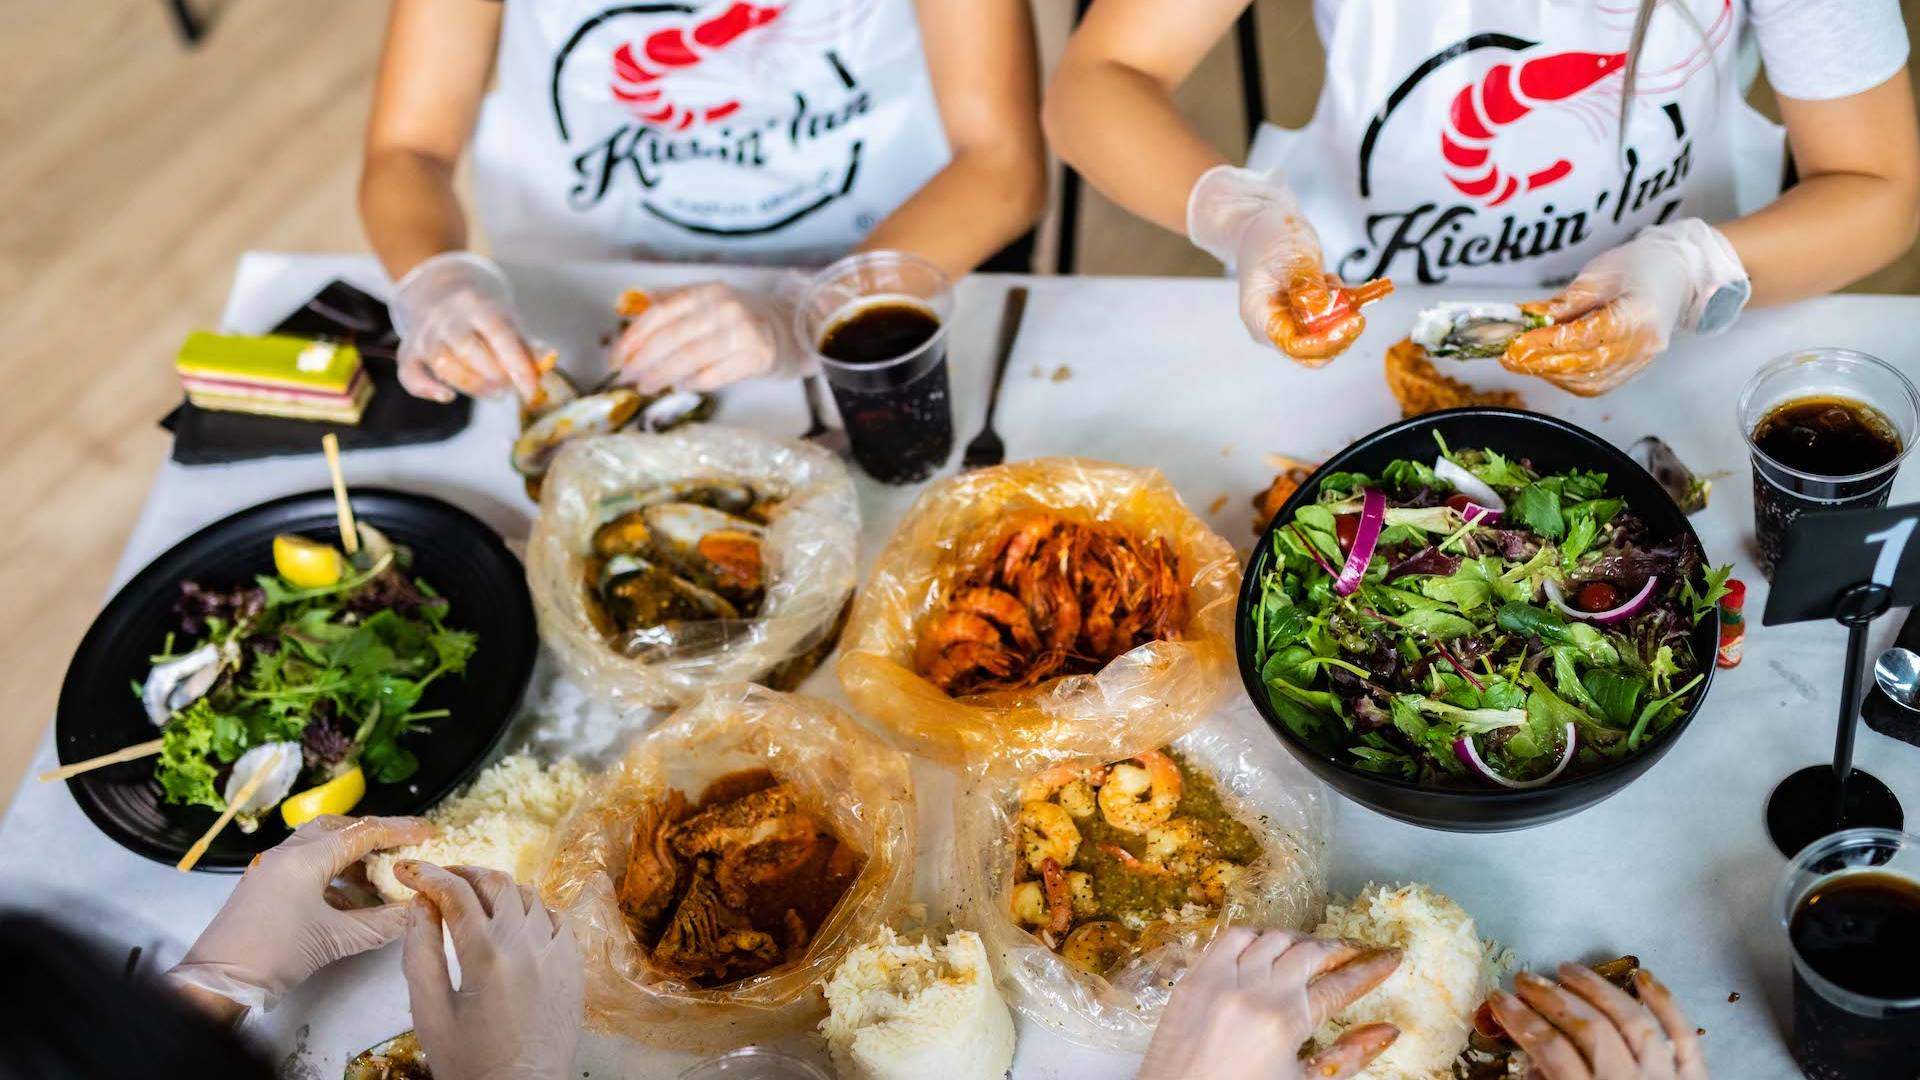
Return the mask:
[[[693,528],[705,528],[701,521],[726,525],[739,513],[764,517],[764,525],[743,527],[755,540],[749,565],[760,578],[758,592],[751,607],[714,600],[714,588],[687,588],[678,575],[655,575],[655,563],[668,567],[645,550],[630,565],[641,567],[647,584],[659,580],[680,590],[670,596],[680,607],[668,607],[672,617],[659,625],[620,638],[595,592],[595,582],[618,563],[597,557],[595,540],[622,509],[664,498],[718,505],[693,505],[691,515],[682,515]],[[751,502],[753,509],[739,502]],[[628,509],[626,517],[662,509]],[[653,528],[655,540],[662,534],[664,528]],[[858,544],[860,505],[847,467],[816,446],[718,425],[618,432],[574,440],[555,457],[526,546],[526,580],[540,638],[582,690],[622,709],[653,709],[722,682],[791,688],[804,678],[841,626]]]

